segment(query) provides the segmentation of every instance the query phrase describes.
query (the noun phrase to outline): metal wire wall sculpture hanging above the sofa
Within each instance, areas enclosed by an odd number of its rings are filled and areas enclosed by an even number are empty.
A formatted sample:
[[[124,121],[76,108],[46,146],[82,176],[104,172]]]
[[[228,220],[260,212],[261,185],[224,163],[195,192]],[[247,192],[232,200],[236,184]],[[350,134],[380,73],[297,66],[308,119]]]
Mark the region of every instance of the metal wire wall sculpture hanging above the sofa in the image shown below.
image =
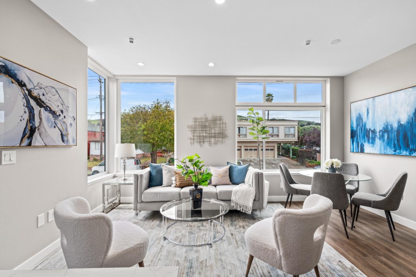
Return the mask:
[[[201,117],[194,117],[188,129],[191,131],[191,137],[189,137],[191,145],[197,144],[202,147],[204,144],[208,146],[224,144],[228,137],[227,125],[222,115],[212,115],[208,118],[204,114]]]

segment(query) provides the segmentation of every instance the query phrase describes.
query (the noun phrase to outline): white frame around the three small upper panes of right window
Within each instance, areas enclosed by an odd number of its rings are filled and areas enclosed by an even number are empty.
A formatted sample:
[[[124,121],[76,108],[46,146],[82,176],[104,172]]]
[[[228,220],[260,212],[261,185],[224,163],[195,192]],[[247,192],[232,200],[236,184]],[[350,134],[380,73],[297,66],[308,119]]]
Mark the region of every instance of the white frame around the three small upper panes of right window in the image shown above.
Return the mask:
[[[238,83],[263,83],[263,102],[238,102]],[[293,83],[293,102],[266,102],[266,83]],[[297,102],[297,83],[321,83],[322,84],[322,102]],[[236,78],[235,80],[235,105],[236,106],[324,106],[326,101],[326,81],[321,78]]]

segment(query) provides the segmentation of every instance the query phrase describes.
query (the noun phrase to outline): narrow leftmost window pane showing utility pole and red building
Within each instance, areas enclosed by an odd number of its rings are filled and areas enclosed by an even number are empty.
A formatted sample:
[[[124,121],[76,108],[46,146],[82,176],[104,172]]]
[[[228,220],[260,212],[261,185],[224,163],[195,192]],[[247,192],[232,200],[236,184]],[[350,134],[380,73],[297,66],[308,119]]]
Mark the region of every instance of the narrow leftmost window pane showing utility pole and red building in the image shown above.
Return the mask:
[[[105,88],[106,79],[88,69],[88,176],[106,171]]]

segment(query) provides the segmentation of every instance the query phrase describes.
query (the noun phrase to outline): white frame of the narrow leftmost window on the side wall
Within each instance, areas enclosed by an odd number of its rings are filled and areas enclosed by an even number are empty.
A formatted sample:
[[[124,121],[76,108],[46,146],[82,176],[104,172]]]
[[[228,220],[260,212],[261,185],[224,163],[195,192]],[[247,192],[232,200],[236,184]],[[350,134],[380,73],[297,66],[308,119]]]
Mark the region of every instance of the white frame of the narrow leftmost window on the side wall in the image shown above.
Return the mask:
[[[109,136],[107,134],[108,133],[107,132],[108,131],[108,126],[109,126],[108,125],[108,118],[107,118],[108,111],[109,111],[109,101],[107,100],[108,99],[108,94],[109,94],[108,93],[108,90],[109,90],[109,84],[108,84],[109,76],[108,76],[108,74],[106,74],[104,69],[102,69],[98,65],[94,64],[94,62],[92,62],[90,59],[88,59],[87,68],[94,71],[96,74],[98,74],[99,76],[101,76],[105,80],[105,82],[104,82],[104,107],[103,107],[104,108],[104,121],[105,121],[105,124],[104,124],[104,151],[103,152],[104,152],[104,160],[106,160],[107,158],[110,158],[110,157],[108,157],[108,151],[107,151],[108,147],[106,147],[106,144],[109,143],[108,142],[108,137]],[[88,70],[87,70],[87,73],[88,73]],[[87,74],[87,76],[88,76],[88,74]],[[88,98],[88,87],[87,87],[87,98]],[[87,123],[87,125],[88,125],[88,123]],[[90,145],[90,147],[91,147],[91,145]],[[106,164],[108,164],[108,163],[106,163]],[[98,174],[87,176],[87,181],[88,181],[87,183],[90,183],[90,181],[89,181],[90,179],[91,180],[92,179],[97,179],[97,177],[99,178],[100,176],[104,176],[108,173],[109,173],[108,166],[105,165],[104,172],[100,172]]]

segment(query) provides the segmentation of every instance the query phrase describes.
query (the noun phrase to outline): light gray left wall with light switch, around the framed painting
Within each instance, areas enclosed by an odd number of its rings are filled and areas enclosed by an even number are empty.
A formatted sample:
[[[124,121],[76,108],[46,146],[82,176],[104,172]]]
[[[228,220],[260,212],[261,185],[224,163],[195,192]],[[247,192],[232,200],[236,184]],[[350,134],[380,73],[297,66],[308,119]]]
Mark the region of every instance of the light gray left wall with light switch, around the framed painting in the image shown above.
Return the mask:
[[[0,0],[0,55],[77,88],[77,146],[12,148],[0,165],[0,270],[12,269],[59,238],[47,211],[87,194],[87,47],[29,0]],[[37,215],[45,226],[37,228]]]

